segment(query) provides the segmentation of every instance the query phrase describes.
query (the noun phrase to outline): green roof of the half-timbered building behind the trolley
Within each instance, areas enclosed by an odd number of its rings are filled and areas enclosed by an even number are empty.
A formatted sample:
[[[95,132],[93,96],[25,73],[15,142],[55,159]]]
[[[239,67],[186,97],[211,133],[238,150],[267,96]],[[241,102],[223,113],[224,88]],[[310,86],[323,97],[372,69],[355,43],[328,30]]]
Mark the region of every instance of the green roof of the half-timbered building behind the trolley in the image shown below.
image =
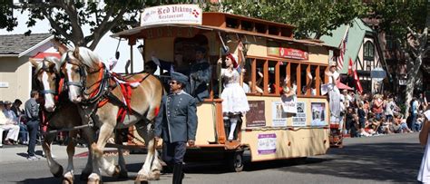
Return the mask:
[[[342,42],[343,37],[347,32],[348,26],[349,25],[344,24],[337,27],[337,29],[332,32],[332,36],[323,35],[321,36],[321,40],[330,46],[339,47],[340,42]],[[347,50],[345,51],[344,55],[344,67],[340,73],[347,73],[347,63],[349,62],[349,58],[351,58],[352,61],[357,60],[358,52],[360,51],[361,45],[363,44],[363,39],[366,32],[373,33],[374,31],[361,19],[354,19],[352,25],[349,26],[348,29]]]

